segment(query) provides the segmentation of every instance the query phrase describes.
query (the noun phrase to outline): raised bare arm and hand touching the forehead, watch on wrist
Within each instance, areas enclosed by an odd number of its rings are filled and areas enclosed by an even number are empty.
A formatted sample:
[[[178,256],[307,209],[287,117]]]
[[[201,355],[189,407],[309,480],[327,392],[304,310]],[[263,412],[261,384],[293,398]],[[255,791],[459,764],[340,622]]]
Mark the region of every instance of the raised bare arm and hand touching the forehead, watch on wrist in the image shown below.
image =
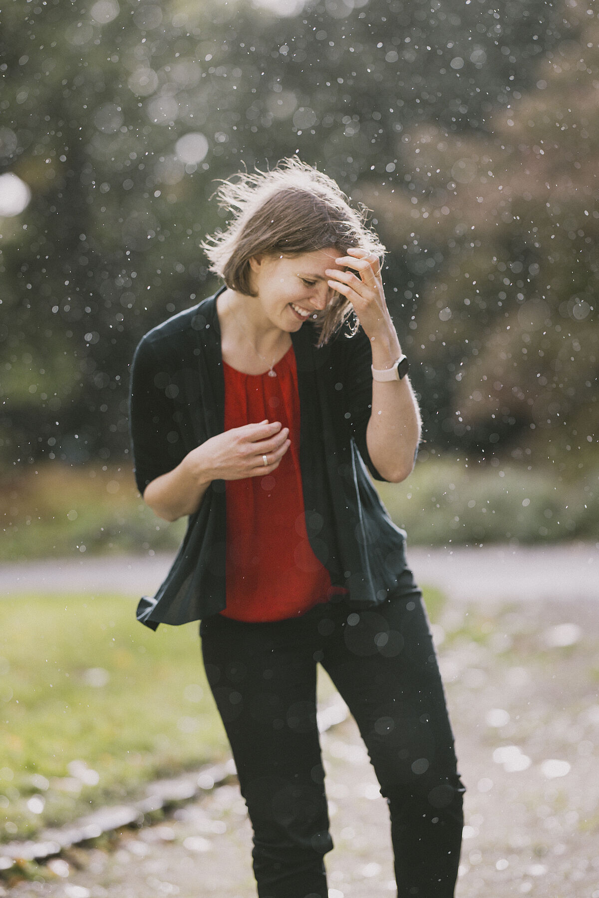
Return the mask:
[[[336,260],[357,269],[330,269],[329,285],[347,296],[370,339],[374,368],[391,368],[401,356],[400,340],[384,298],[379,260],[364,250],[348,250]],[[401,381],[373,382],[372,412],[366,445],[374,467],[385,480],[405,480],[414,465],[420,439],[418,403],[407,377]]]

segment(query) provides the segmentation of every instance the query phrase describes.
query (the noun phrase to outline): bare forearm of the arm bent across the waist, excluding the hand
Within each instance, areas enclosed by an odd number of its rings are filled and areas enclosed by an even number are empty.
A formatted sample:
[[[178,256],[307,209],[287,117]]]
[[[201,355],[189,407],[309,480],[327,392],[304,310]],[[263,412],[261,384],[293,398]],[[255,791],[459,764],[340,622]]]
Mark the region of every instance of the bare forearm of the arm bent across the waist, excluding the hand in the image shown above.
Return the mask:
[[[210,482],[208,471],[202,469],[194,450],[172,471],[148,483],[144,501],[155,515],[165,521],[176,521],[198,511]]]

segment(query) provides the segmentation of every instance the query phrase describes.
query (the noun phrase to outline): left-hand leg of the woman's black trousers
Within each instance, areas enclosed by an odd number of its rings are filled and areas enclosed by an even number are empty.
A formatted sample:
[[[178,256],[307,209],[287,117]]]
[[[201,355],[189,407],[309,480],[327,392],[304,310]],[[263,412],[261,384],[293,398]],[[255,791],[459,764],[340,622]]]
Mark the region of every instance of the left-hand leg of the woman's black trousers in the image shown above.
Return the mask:
[[[332,843],[308,629],[213,618],[200,632],[254,830],[258,894],[326,898],[323,855]]]

